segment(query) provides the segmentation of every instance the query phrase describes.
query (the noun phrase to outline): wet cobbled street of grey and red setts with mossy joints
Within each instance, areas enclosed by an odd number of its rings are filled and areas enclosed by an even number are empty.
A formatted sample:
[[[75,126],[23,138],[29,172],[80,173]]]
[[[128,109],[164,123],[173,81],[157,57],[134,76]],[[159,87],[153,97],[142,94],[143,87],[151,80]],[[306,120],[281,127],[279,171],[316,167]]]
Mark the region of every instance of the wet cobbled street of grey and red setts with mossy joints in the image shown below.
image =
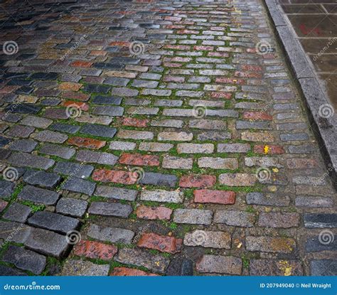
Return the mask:
[[[0,274],[337,274],[262,1],[34,3],[0,14]]]

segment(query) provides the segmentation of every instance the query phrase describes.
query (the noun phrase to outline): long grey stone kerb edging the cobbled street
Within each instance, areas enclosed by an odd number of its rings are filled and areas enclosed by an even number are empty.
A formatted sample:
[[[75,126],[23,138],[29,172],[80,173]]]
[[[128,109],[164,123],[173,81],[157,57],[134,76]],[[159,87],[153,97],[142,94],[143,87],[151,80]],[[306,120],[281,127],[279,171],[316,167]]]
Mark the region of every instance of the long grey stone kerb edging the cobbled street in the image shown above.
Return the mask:
[[[324,95],[321,85],[317,80],[316,74],[311,69],[309,60],[306,58],[303,48],[294,36],[289,24],[284,18],[283,11],[276,0],[264,1],[276,27],[282,47],[286,53],[287,59],[298,79],[298,85],[301,93],[304,95],[306,109],[308,110],[311,127],[314,129],[316,139],[319,141],[321,154],[330,173],[333,186],[337,190],[337,134],[333,127],[337,127],[336,114],[329,118],[319,116],[319,107],[329,103],[328,97]]]

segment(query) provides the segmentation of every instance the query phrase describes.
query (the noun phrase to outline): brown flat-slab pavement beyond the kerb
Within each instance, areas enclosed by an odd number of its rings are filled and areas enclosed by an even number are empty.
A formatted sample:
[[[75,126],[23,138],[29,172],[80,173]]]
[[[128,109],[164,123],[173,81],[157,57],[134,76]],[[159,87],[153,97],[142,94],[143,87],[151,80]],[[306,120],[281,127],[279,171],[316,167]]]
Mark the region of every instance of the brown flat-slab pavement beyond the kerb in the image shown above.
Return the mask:
[[[337,2],[336,0],[314,0],[303,4],[298,4],[298,1],[292,2],[279,1],[336,111]]]

